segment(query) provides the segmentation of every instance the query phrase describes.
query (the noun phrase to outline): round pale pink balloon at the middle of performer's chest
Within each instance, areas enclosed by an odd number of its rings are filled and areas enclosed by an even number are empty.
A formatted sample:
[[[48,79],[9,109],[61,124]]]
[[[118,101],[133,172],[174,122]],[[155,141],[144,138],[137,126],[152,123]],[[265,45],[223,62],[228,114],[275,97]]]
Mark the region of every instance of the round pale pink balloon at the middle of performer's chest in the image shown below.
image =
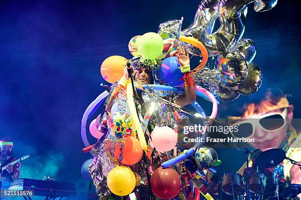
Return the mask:
[[[178,134],[168,126],[157,127],[151,132],[151,142],[158,151],[172,150],[178,141]]]

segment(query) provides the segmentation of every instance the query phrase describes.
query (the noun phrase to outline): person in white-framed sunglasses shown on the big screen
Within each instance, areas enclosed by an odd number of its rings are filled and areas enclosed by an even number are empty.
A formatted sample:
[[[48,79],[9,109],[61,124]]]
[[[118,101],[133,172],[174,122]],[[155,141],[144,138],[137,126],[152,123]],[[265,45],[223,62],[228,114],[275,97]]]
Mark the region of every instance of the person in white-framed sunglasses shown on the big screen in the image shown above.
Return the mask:
[[[280,90],[268,89],[264,98],[258,102],[245,104],[242,115],[228,117],[228,124],[237,125],[239,131],[231,132],[234,138],[252,138],[248,143],[261,151],[270,148],[281,148],[286,156],[301,163],[301,134],[292,126],[294,106],[289,104],[287,95]],[[252,160],[249,166],[253,166]],[[244,164],[239,173],[246,168]],[[284,160],[277,166],[280,176],[289,184],[301,184],[301,171],[298,166]],[[300,197],[299,197],[300,198]]]

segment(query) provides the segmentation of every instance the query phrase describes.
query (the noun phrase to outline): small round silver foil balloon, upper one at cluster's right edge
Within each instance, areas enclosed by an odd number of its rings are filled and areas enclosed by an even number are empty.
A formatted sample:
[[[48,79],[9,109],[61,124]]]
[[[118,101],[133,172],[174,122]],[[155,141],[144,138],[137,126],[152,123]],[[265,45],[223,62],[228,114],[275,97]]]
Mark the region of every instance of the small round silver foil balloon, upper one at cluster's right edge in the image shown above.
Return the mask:
[[[241,52],[241,55],[249,63],[252,62],[256,55],[256,44],[251,39],[240,39],[236,45],[236,49]]]

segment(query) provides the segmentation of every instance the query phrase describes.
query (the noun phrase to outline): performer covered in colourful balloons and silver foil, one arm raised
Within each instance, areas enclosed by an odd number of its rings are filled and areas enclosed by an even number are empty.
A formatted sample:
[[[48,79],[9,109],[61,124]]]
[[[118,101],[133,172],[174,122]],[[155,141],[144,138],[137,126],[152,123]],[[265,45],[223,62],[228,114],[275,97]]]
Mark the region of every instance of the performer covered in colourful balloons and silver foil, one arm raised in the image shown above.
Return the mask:
[[[83,151],[93,155],[89,172],[100,199],[134,195],[141,200],[198,200],[200,194],[210,199],[205,184],[215,171],[211,167],[220,164],[217,153],[201,142],[183,142],[184,138],[206,137],[206,131],[185,135],[180,123],[190,115],[198,124],[211,125],[217,114],[215,97],[232,101],[261,85],[261,70],[251,63],[255,43],[241,39],[246,6],[251,2],[256,11],[276,4],[276,0],[202,0],[187,29],[181,30],[183,19],[164,22],[158,33],[130,40],[132,59],[112,56],[104,60],[103,79],[118,83],[110,94],[105,91],[98,96],[101,100],[97,97],[90,104],[82,120]],[[217,19],[221,26],[212,33]],[[202,57],[193,71],[188,53]],[[208,86],[215,97],[200,85]],[[86,137],[86,122],[93,107],[97,109],[107,95],[106,113],[90,124],[91,135],[98,139],[93,146]],[[212,102],[209,119],[195,101],[196,95]],[[198,113],[183,108],[190,103]],[[188,120],[187,125],[194,124]]]

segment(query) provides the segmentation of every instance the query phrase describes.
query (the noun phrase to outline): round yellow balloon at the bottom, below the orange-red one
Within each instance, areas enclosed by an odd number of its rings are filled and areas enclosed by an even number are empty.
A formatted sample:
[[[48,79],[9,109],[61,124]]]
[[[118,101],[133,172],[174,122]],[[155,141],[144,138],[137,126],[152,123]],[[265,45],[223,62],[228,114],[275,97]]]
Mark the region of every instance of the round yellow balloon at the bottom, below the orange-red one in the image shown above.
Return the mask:
[[[135,188],[136,178],[131,169],[123,166],[113,168],[107,176],[109,190],[118,196],[129,195]]]

